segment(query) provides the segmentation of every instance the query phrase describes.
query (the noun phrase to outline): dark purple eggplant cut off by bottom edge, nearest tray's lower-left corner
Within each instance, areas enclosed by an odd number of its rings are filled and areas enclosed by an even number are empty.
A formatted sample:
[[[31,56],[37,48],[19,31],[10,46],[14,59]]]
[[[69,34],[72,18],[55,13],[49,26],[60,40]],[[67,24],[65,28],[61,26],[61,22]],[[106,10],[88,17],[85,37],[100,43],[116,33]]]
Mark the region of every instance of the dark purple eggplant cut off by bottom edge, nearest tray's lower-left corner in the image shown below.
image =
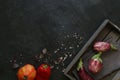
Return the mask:
[[[83,62],[82,59],[80,59],[79,63],[78,63],[78,67],[77,67],[77,71],[79,74],[79,77],[82,80],[94,80],[94,78],[92,78],[87,71],[85,70],[85,67],[83,66]]]

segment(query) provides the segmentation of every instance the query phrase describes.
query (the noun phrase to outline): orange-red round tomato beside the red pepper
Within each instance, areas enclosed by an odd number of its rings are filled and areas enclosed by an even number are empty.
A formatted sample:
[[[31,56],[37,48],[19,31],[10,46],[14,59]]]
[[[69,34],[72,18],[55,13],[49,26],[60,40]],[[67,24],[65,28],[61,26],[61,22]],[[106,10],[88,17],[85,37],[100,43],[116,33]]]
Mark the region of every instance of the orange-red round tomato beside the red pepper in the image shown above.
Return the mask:
[[[26,64],[18,70],[18,80],[34,80],[36,77],[36,70],[33,65]]]

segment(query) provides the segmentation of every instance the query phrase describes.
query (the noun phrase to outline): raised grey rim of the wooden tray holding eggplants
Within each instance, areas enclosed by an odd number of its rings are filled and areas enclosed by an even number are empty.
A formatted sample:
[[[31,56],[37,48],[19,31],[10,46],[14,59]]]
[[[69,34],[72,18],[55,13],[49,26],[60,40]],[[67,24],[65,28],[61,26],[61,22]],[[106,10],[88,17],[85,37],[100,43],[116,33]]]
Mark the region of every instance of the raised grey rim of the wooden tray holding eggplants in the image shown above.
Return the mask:
[[[102,24],[100,25],[100,27],[93,33],[93,35],[91,36],[91,38],[85,43],[85,45],[83,46],[83,48],[78,52],[78,54],[73,58],[73,60],[70,62],[70,64],[67,66],[64,75],[67,76],[69,79],[71,80],[76,80],[74,77],[71,77],[70,75],[68,75],[67,73],[69,72],[69,70],[72,68],[72,66],[75,64],[75,62],[79,59],[79,57],[84,53],[85,49],[88,48],[90,46],[90,44],[95,40],[95,38],[97,37],[97,35],[103,30],[103,28],[110,23],[111,25],[113,25],[118,32],[120,32],[120,28],[115,25],[114,23],[112,23],[109,19],[105,19]]]

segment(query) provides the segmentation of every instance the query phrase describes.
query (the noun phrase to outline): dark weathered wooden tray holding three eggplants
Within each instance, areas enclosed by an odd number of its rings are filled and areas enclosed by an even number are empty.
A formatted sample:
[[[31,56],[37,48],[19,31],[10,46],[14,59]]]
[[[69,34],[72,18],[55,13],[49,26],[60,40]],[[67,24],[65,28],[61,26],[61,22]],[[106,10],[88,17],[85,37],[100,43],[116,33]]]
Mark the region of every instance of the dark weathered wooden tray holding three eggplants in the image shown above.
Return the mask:
[[[88,70],[88,60],[96,54],[93,50],[93,44],[96,41],[106,41],[110,42],[118,48],[117,51],[108,51],[104,53],[101,57],[103,60],[104,68],[103,70],[93,75]],[[108,19],[105,20],[97,31],[93,34],[93,36],[88,40],[88,42],[84,45],[84,47],[79,51],[79,53],[75,56],[72,62],[66,68],[64,74],[70,78],[71,80],[80,80],[78,75],[76,74],[76,67],[79,61],[79,58],[82,57],[84,66],[88,73],[94,77],[95,80],[100,80],[108,74],[112,73],[115,70],[120,68],[120,28],[113,24]]]

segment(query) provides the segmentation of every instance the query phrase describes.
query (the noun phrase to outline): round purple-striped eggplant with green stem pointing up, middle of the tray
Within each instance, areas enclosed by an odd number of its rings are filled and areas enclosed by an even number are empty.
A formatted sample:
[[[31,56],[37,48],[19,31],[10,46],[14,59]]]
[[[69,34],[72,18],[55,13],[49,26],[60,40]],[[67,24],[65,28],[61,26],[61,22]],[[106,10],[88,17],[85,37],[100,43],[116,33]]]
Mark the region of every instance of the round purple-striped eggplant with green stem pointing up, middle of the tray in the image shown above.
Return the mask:
[[[89,60],[88,68],[93,74],[99,73],[103,68],[102,59],[100,58],[101,54],[102,53],[99,52]]]

